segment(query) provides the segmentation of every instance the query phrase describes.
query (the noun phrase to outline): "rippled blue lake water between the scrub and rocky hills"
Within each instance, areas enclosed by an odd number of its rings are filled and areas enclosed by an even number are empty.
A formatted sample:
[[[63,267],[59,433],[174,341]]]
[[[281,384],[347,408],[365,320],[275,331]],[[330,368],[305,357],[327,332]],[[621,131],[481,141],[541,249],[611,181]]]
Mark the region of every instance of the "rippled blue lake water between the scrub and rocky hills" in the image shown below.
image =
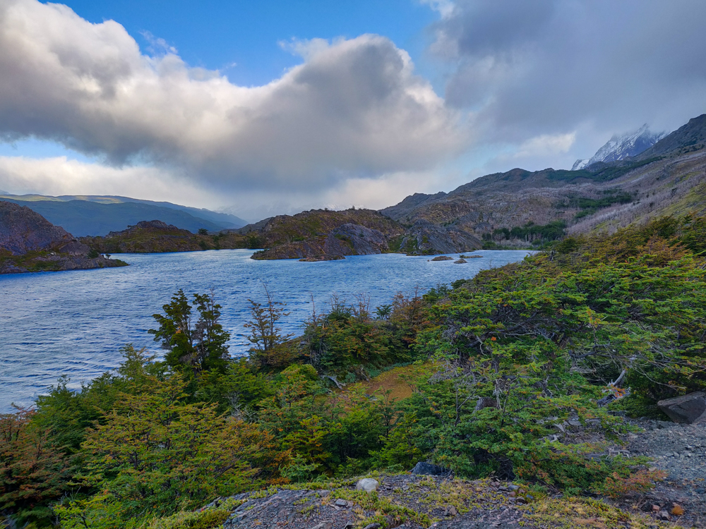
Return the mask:
[[[479,270],[522,260],[524,250],[480,250],[466,265],[431,262],[429,257],[359,255],[340,261],[256,261],[252,250],[128,254],[115,257],[129,267],[10,274],[0,276],[0,412],[12,402],[27,406],[56,383],[71,377],[78,387],[119,363],[126,343],[160,352],[148,329],[178,288],[191,293],[215,290],[222,324],[232,333],[230,351],[249,348],[243,324],[248,298],[263,300],[263,281],[290,315],[285,332],[301,333],[316,311],[326,310],[332,293],[353,300],[371,297],[371,307],[390,303],[395,293],[424,292],[438,284],[469,278]],[[457,255],[450,257],[457,257]]]

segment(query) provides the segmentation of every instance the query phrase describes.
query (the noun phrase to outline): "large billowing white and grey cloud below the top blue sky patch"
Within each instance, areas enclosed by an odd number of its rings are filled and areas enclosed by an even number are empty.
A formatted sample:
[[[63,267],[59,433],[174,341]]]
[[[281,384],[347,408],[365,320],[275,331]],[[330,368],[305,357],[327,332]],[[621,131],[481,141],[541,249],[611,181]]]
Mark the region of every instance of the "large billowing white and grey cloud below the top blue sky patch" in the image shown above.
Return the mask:
[[[152,43],[159,53],[145,56],[112,20],[3,0],[0,135],[270,193],[425,170],[465,142],[457,114],[385,37],[292,42],[304,63],[258,87],[190,68],[167,42]]]

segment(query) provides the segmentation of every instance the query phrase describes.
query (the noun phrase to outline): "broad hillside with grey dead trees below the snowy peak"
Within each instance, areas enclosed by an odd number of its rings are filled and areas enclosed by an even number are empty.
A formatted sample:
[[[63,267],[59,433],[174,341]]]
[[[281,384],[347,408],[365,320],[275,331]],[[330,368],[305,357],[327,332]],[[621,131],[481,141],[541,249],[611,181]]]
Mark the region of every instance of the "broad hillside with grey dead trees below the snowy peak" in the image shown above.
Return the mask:
[[[450,193],[411,195],[381,213],[476,237],[561,222],[570,232],[612,231],[664,214],[706,210],[706,114],[637,157],[563,171],[513,169]]]

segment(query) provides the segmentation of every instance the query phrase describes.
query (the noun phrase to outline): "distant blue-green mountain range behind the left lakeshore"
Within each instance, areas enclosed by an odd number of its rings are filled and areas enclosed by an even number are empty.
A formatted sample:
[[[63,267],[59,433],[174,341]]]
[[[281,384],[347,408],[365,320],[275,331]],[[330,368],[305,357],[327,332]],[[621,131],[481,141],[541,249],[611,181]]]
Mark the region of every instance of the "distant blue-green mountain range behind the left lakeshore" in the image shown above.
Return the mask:
[[[247,224],[235,215],[209,209],[111,195],[52,197],[5,193],[0,194],[0,200],[27,206],[77,237],[106,235],[145,220],[160,220],[193,233],[199,229],[236,229]]]

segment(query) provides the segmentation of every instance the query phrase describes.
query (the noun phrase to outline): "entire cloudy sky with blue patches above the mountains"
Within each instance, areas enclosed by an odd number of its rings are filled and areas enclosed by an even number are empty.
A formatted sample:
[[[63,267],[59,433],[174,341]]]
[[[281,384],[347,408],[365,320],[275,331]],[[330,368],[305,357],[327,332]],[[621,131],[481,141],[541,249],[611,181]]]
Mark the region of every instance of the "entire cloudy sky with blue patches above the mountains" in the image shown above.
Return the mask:
[[[381,208],[706,112],[701,0],[0,0],[0,190]]]

